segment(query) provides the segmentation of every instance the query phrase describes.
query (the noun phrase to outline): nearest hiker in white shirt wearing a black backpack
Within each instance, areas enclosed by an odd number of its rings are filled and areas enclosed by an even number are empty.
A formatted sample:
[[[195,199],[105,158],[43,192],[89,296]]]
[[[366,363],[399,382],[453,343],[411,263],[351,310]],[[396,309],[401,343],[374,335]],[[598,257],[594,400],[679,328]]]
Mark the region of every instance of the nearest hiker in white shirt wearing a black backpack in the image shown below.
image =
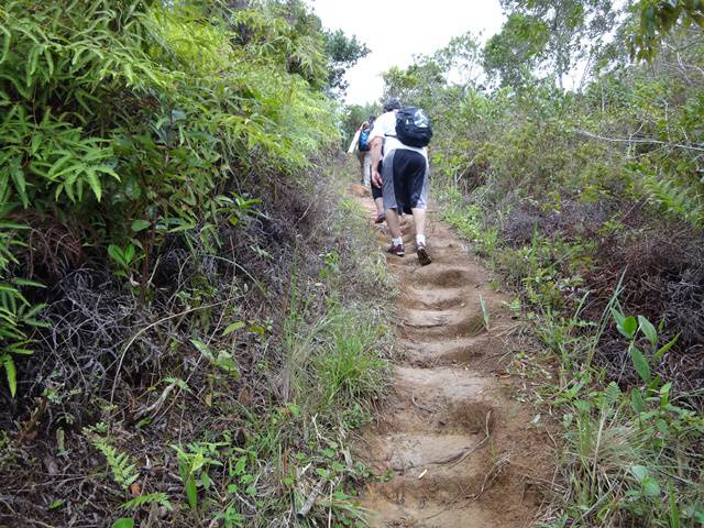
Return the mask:
[[[425,145],[430,141],[432,130],[422,110],[415,107],[402,109],[397,98],[392,98],[384,105],[384,112],[374,122],[370,139],[372,184],[382,189],[386,223],[392,234],[388,252],[396,256],[406,254],[399,215],[413,215],[418,262],[426,266],[432,261],[426,246],[425,233],[429,175],[428,151]]]

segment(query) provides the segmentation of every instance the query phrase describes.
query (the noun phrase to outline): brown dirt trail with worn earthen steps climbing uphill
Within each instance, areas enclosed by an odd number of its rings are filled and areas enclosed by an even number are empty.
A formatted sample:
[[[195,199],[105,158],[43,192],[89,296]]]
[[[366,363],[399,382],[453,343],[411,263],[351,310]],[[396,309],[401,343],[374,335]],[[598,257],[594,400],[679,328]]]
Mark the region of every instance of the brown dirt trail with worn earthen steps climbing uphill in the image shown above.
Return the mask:
[[[371,212],[367,191],[351,191]],[[432,264],[418,264],[410,219],[403,223],[406,256],[387,255],[400,285],[403,361],[359,447],[367,465],[391,479],[367,486],[362,504],[375,527],[528,527],[551,450],[542,428],[530,424],[535,411],[512,399],[516,388],[499,366],[512,352],[514,324],[503,302],[509,299],[432,216]],[[377,240],[388,245],[385,228]]]

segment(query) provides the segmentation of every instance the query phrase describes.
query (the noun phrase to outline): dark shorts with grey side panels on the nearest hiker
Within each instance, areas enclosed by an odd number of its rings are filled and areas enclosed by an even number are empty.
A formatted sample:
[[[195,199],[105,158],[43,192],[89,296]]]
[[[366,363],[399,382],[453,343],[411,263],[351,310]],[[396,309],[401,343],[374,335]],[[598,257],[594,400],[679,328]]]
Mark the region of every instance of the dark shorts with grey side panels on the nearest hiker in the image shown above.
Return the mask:
[[[428,200],[428,161],[415,151],[396,148],[384,156],[384,209],[411,213],[425,209]]]

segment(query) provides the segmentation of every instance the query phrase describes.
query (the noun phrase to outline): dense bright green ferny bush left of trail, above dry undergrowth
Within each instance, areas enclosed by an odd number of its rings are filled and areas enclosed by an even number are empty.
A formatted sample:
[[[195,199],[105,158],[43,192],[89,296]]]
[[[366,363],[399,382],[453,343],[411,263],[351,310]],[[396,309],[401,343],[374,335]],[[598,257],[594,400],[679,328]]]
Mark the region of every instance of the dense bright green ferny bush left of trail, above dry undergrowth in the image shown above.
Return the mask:
[[[20,292],[34,284],[19,277],[47,282],[109,255],[144,300],[174,237],[218,245],[218,218],[246,212],[240,193],[275,188],[333,143],[322,36],[276,9],[1,8],[1,350],[13,394],[12,358],[38,322]]]

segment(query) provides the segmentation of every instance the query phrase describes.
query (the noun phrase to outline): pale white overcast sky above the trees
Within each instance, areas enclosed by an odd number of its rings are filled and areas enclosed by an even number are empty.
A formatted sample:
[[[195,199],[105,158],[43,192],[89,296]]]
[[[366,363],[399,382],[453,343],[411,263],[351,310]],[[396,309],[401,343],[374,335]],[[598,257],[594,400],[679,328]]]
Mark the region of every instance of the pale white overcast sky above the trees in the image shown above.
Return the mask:
[[[498,0],[309,0],[322,25],[341,29],[372,50],[346,79],[346,102],[364,105],[382,96],[381,74],[408,66],[413,56],[444,47],[468,31],[487,38],[503,22]]]

